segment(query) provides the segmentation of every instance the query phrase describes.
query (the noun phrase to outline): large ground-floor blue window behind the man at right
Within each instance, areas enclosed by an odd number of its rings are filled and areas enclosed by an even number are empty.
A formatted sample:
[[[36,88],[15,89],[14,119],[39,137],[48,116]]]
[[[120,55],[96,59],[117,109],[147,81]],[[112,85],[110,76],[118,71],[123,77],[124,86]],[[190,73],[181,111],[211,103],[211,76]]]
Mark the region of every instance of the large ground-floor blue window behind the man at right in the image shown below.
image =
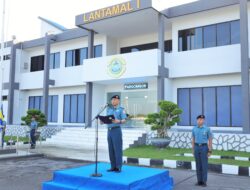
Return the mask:
[[[204,114],[209,126],[241,126],[241,87],[206,87],[178,89],[178,105],[183,110],[179,125],[196,124]]]

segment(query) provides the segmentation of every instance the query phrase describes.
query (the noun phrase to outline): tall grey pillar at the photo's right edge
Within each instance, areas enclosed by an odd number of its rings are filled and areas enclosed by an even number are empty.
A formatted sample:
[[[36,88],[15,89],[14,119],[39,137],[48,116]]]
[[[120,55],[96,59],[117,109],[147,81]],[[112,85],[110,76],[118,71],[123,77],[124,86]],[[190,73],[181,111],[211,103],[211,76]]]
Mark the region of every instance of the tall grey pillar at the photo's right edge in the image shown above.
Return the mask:
[[[250,133],[249,97],[249,39],[247,0],[240,0],[240,44],[242,82],[242,126],[244,133]]]

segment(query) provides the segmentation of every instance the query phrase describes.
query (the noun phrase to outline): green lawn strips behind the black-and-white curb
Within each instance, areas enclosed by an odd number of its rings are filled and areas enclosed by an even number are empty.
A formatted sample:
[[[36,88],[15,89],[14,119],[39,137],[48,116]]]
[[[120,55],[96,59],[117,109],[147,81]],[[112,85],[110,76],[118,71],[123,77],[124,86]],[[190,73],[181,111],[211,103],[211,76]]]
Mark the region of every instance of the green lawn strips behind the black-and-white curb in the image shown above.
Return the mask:
[[[191,149],[179,149],[179,148],[166,148],[158,149],[153,146],[139,146],[134,148],[128,148],[124,151],[124,156],[132,158],[151,158],[151,159],[168,159],[178,161],[194,161],[193,157],[176,156],[176,154],[191,153]],[[221,156],[240,156],[250,157],[249,152],[236,152],[236,151],[213,151],[214,155]],[[250,162],[238,161],[233,159],[209,159],[209,163],[213,164],[229,164],[250,167]]]

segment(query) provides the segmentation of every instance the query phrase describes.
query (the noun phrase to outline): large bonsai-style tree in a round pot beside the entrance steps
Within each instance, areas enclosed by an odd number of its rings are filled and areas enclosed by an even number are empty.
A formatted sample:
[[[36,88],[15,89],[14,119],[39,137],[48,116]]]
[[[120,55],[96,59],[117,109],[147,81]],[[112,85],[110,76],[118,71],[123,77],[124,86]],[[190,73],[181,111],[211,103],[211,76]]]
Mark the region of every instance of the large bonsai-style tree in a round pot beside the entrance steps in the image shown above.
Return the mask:
[[[166,148],[171,142],[168,129],[180,121],[182,110],[177,104],[170,101],[160,101],[158,113],[148,114],[144,123],[151,125],[151,129],[157,131],[157,136],[151,139],[153,146]]]

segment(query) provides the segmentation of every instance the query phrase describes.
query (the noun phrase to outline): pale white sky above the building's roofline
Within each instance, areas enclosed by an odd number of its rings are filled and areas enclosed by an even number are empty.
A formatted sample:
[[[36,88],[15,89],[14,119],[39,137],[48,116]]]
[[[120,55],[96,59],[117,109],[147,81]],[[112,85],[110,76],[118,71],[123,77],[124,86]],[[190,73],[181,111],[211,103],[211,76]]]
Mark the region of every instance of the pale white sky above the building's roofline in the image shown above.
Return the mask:
[[[0,1],[2,12],[3,0]],[[17,41],[39,37],[38,16],[74,28],[76,15],[124,1],[128,0],[6,0],[5,40],[11,39],[12,35],[17,37]],[[164,9],[190,1],[194,0],[153,0],[153,3],[156,8]]]

